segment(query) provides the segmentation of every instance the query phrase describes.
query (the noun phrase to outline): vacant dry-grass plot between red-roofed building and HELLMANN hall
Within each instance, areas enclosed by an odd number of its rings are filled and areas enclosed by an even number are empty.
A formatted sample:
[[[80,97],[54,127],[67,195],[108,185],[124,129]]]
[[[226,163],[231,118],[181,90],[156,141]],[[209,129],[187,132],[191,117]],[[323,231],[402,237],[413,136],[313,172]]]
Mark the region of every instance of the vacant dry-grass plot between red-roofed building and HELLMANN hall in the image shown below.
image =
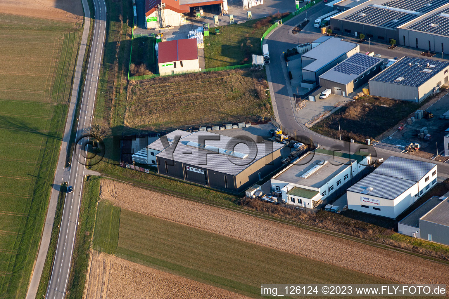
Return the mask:
[[[272,113],[264,72],[233,69],[130,83],[125,125],[140,129],[260,120]]]

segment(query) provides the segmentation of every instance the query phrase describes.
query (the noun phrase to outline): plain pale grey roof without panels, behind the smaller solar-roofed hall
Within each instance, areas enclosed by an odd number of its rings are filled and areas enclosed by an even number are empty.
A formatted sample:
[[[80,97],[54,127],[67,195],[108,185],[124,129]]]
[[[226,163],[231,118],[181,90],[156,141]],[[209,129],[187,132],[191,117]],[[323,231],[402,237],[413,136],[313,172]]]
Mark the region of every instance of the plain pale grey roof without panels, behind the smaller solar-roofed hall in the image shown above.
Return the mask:
[[[316,72],[357,47],[357,43],[346,42],[336,37],[327,39],[302,55],[315,60],[304,66],[303,69]]]

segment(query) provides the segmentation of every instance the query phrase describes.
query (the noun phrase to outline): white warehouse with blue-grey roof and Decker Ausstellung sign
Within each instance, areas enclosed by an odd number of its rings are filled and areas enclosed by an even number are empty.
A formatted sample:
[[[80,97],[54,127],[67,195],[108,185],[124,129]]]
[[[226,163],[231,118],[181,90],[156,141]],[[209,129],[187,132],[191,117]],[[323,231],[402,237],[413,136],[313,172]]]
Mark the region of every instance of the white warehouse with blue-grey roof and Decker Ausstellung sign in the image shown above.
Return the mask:
[[[391,156],[348,188],[348,208],[395,219],[436,183],[436,164]]]

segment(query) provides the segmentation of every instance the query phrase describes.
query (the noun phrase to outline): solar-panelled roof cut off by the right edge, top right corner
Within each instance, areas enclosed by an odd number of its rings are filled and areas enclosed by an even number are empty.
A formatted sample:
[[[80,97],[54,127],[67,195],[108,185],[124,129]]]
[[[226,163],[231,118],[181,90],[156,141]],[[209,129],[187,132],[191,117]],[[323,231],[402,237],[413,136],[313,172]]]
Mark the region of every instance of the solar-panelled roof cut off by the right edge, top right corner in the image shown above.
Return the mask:
[[[408,29],[418,30],[438,35],[449,36],[449,4],[435,13],[426,14],[407,26]]]

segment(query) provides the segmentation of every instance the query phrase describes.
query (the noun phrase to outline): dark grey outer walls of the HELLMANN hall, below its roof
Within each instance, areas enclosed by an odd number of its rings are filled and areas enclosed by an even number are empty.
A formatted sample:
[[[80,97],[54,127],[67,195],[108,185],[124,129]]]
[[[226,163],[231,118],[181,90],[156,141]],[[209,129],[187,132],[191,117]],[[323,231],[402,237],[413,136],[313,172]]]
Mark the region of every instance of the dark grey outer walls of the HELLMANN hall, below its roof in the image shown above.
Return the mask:
[[[282,165],[280,149],[274,151],[273,154],[256,160],[236,175],[207,169],[207,165],[201,167],[163,157],[156,158],[158,162],[158,173],[160,174],[232,193],[240,193],[246,190],[255,182],[269,175]],[[213,159],[213,155],[210,155],[208,159]],[[201,169],[203,173],[187,170],[187,167]]]

